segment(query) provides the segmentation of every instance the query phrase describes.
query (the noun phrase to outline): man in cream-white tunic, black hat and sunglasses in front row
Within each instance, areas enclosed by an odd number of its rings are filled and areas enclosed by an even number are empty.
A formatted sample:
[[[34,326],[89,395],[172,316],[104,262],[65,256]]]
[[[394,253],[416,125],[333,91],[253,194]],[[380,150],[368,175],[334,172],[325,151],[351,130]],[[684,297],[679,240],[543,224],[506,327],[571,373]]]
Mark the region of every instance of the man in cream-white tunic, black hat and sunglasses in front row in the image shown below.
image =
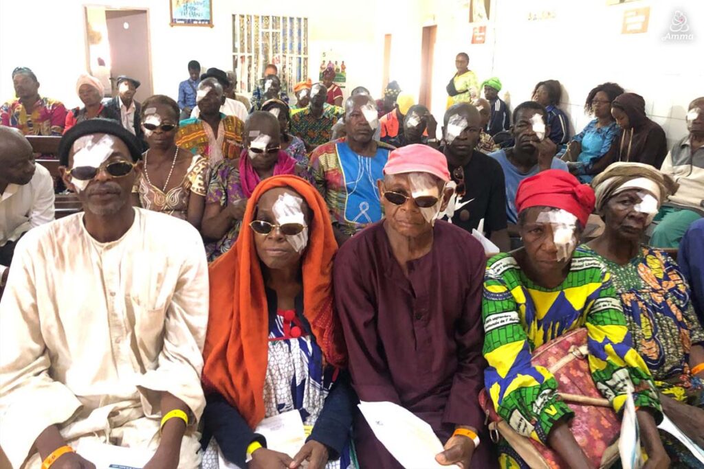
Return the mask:
[[[59,156],[84,212],[15,249],[0,302],[0,448],[13,468],[94,468],[82,448],[96,443],[144,453],[144,468],[196,468],[208,322],[199,233],[130,205],[139,143],[117,122],[77,124]]]

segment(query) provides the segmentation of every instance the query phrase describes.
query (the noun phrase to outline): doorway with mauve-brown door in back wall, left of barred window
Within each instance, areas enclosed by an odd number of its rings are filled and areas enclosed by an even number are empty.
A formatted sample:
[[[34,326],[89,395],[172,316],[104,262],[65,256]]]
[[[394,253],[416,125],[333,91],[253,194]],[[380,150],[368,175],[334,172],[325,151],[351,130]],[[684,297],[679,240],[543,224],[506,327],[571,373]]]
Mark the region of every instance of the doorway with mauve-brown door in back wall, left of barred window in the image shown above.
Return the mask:
[[[134,98],[153,94],[146,10],[86,7],[88,70],[103,82],[106,96],[115,96],[115,80],[127,75],[142,82]]]

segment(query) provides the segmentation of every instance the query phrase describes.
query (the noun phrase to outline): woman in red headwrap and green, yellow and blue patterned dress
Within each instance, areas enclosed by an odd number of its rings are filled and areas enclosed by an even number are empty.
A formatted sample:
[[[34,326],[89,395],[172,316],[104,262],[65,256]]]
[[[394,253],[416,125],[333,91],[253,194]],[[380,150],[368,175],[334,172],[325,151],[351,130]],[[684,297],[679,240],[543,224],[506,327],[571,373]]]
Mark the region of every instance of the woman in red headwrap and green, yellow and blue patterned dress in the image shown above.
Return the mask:
[[[515,432],[552,449],[562,460],[560,467],[592,467],[590,451],[570,429],[574,411],[558,397],[558,380],[531,361],[536,347],[586,327],[593,384],[617,413],[631,390],[648,454],[646,467],[666,468],[669,459],[655,424],[662,419],[658,392],[648,367],[631,348],[610,273],[595,255],[575,251],[594,200],[589,186],[557,169],[518,186],[524,247],[490,259],[484,277],[486,390],[498,415]],[[592,439],[598,440],[598,429]],[[500,449],[501,465],[524,467],[505,442]]]

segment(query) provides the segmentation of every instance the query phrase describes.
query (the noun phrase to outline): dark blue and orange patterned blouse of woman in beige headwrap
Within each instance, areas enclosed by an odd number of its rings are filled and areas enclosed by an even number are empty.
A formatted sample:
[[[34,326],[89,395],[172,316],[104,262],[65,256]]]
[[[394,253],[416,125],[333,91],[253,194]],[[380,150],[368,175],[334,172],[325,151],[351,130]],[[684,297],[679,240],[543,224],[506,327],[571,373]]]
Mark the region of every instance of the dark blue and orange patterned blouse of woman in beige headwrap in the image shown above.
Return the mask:
[[[689,350],[704,342],[704,330],[674,260],[648,246],[625,265],[599,256],[586,245],[579,250],[601,259],[611,272],[634,348],[650,368],[655,384],[668,387],[663,383],[667,381],[685,389],[691,387]]]

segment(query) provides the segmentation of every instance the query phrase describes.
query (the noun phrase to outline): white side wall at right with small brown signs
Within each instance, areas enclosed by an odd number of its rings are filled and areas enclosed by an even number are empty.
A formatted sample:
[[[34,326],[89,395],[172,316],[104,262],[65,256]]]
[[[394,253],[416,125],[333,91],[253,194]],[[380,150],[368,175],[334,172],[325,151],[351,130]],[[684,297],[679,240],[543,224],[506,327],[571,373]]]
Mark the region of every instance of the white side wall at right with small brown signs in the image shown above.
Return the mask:
[[[501,79],[501,95],[508,92],[512,107],[530,99],[536,82],[559,79],[564,86],[561,107],[571,117],[573,133],[589,122],[584,101],[602,82],[614,81],[641,94],[647,113],[662,125],[670,143],[686,134],[689,101],[704,96],[701,0],[641,0],[619,6],[607,6],[606,0],[493,0],[485,44],[471,44],[474,25],[467,0],[409,2],[401,11],[387,7],[400,18],[379,25],[377,47],[383,46],[383,34],[392,34],[390,79],[417,96],[422,26],[437,25],[432,111],[439,121],[445,85],[460,51],[470,55],[479,82],[494,75]],[[650,6],[648,32],[621,34],[624,10],[643,6]],[[556,18],[527,20],[529,11],[543,10],[555,11]],[[693,40],[662,41],[676,10],[688,18]]]

